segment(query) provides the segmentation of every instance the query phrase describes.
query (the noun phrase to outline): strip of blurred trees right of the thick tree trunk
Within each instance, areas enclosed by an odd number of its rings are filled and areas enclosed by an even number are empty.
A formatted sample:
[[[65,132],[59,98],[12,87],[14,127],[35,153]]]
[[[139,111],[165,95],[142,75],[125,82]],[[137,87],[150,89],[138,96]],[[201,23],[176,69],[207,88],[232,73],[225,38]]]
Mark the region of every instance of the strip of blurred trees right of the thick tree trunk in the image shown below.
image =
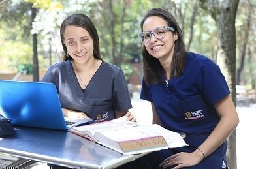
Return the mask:
[[[238,6],[237,48],[238,54],[236,84],[246,85],[249,89],[255,89],[255,6],[256,1],[240,0]]]

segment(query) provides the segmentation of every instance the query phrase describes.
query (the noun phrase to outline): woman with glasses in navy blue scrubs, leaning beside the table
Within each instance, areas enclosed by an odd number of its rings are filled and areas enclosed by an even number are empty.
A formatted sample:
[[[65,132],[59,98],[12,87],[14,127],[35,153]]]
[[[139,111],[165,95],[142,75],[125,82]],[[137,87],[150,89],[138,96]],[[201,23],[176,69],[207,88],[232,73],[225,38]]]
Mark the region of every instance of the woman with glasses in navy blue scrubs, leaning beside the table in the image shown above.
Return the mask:
[[[185,132],[189,144],[142,159],[148,168],[227,168],[227,138],[239,119],[221,70],[208,57],[185,51],[182,30],[170,12],[153,8],[140,26],[140,99],[151,102],[153,123]]]

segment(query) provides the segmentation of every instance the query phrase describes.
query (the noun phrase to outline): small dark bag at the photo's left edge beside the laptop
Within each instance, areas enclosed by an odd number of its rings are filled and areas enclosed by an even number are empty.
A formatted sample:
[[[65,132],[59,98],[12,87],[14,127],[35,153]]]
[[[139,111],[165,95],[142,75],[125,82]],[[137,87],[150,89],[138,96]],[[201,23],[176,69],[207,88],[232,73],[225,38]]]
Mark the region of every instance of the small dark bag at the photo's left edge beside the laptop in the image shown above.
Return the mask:
[[[10,119],[3,117],[0,114],[0,137],[13,137],[14,136],[14,128],[12,123],[10,123]]]

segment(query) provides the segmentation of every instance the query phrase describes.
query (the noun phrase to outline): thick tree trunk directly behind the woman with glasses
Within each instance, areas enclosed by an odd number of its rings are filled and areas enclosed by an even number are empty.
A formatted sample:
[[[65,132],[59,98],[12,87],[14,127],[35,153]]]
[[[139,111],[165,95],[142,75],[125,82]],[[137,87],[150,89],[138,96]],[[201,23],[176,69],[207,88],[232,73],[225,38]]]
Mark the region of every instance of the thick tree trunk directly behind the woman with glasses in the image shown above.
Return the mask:
[[[208,10],[217,24],[217,65],[223,72],[231,97],[236,103],[236,30],[235,19],[239,0],[200,0],[202,8]],[[229,168],[236,169],[236,131],[228,138],[227,161]]]

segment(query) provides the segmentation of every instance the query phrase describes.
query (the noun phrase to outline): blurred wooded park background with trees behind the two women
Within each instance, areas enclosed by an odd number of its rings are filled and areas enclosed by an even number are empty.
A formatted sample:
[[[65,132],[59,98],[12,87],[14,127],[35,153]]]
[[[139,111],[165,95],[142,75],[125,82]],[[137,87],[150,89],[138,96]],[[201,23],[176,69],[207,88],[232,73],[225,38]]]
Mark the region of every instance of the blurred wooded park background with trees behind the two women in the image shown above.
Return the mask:
[[[140,21],[153,7],[174,14],[187,51],[220,67],[241,106],[255,103],[255,0],[0,0],[0,79],[40,81],[62,61],[59,26],[71,13],[87,14],[99,33],[103,59],[124,70],[131,97],[142,79]],[[236,132],[228,159],[236,166]]]

